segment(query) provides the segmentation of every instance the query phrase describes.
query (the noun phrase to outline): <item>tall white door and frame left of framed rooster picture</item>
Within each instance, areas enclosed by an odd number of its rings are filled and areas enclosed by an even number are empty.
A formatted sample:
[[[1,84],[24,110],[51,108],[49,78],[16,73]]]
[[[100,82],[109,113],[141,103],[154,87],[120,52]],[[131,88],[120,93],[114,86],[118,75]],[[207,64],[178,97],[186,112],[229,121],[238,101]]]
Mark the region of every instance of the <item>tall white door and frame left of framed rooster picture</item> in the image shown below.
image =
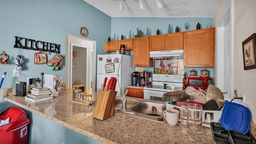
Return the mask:
[[[231,2],[227,2],[220,19],[218,20],[216,34],[216,86],[220,88],[224,94],[225,100],[233,98],[233,50],[232,50],[232,18],[231,18]]]

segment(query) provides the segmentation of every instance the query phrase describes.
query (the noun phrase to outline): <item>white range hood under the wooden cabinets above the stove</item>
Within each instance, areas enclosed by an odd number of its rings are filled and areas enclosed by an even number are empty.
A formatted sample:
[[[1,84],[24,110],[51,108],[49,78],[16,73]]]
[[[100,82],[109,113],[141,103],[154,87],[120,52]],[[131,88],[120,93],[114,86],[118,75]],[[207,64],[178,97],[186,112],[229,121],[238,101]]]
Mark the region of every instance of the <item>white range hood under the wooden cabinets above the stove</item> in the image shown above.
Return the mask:
[[[183,57],[183,50],[150,51],[150,58]]]

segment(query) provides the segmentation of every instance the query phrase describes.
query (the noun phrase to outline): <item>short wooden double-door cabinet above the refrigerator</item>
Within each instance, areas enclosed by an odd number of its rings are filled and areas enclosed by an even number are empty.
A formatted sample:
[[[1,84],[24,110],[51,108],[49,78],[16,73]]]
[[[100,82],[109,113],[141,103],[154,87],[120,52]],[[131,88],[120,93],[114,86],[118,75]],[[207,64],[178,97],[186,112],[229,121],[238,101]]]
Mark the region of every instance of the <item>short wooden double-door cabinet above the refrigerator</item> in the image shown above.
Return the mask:
[[[116,52],[116,50],[120,50],[120,45],[125,45],[125,50],[130,51],[133,49],[132,43],[133,39],[125,39],[125,40],[114,40],[110,42],[105,42],[105,52]]]

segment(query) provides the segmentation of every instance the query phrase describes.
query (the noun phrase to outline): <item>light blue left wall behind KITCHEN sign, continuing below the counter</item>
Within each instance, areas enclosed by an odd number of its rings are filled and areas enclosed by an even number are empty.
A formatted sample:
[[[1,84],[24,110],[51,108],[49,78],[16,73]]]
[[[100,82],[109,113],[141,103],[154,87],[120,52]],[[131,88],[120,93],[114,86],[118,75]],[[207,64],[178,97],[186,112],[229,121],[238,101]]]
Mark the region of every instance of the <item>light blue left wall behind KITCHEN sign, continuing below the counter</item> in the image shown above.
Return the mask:
[[[104,40],[111,33],[111,18],[83,0],[0,0],[0,54],[5,51],[10,57],[10,65],[0,65],[1,77],[7,72],[0,90],[0,112],[17,107],[2,100],[2,89],[14,88],[16,81],[26,82],[27,77],[41,78],[41,72],[65,79],[65,63],[60,71],[49,70],[46,64],[34,64],[34,53],[38,51],[14,48],[14,36],[60,44],[61,54],[66,55],[66,33],[80,36],[82,26],[89,30],[87,38],[97,41],[97,54],[104,54]],[[24,59],[20,79],[12,77],[19,51]],[[53,56],[48,55],[48,60]],[[32,119],[30,144],[99,143],[46,118],[27,113]]]

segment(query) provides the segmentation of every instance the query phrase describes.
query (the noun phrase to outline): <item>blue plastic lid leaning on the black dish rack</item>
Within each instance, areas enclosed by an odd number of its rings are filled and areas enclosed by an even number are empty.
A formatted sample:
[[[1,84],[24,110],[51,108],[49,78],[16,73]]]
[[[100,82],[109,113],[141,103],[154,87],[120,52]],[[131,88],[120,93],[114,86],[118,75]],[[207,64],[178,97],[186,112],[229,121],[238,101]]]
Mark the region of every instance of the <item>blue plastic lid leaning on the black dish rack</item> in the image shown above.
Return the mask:
[[[250,128],[251,112],[246,106],[226,100],[220,122],[226,130],[247,134]]]

